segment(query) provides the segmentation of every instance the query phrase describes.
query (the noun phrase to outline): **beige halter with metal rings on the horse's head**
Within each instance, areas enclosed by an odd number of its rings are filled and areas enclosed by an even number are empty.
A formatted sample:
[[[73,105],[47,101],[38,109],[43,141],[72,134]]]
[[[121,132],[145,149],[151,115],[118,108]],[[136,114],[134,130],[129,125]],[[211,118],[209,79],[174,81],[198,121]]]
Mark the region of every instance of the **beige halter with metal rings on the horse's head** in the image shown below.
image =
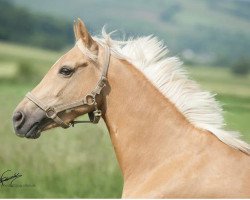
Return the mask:
[[[97,102],[96,102],[96,96],[99,95],[102,91],[102,89],[106,86],[107,82],[107,72],[109,67],[109,60],[110,60],[110,49],[108,46],[104,46],[105,49],[105,60],[104,60],[104,66],[103,71],[100,77],[100,80],[97,83],[97,86],[90,94],[87,94],[82,100],[75,101],[70,104],[66,105],[60,105],[60,106],[47,106],[45,105],[41,100],[39,100],[36,96],[34,96],[31,92],[28,92],[26,94],[26,97],[32,101],[36,106],[41,108],[46,116],[54,122],[56,122],[58,125],[60,125],[62,128],[69,128],[70,126],[74,126],[76,123],[93,123],[97,124],[101,118],[102,111],[98,109]],[[94,111],[88,113],[90,121],[72,121],[69,123],[64,122],[59,116],[58,113],[70,110],[73,108],[77,108],[80,106],[94,106]]]

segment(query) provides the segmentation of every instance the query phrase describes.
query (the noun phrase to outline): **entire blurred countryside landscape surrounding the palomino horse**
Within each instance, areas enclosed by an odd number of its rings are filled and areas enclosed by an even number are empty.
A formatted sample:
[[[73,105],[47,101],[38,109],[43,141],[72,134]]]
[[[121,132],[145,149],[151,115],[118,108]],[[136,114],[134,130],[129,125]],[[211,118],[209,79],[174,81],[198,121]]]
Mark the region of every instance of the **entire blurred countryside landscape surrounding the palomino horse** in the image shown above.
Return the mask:
[[[12,112],[52,64],[74,45],[80,17],[94,35],[154,34],[190,76],[218,95],[228,129],[250,142],[250,1],[0,0],[0,174],[23,176],[0,187],[3,198],[120,197],[122,176],[103,122],[15,136]]]

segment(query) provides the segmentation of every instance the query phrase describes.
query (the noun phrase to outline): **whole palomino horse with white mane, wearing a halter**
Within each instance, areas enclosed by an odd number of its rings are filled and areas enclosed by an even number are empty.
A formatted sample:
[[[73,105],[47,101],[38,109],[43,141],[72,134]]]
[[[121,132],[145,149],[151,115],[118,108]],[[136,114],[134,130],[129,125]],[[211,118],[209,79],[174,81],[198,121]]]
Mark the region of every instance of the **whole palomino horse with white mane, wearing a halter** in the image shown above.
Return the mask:
[[[250,147],[223,130],[221,108],[156,38],[91,37],[76,45],[14,112],[16,134],[38,138],[89,113],[108,127],[123,197],[250,197]]]

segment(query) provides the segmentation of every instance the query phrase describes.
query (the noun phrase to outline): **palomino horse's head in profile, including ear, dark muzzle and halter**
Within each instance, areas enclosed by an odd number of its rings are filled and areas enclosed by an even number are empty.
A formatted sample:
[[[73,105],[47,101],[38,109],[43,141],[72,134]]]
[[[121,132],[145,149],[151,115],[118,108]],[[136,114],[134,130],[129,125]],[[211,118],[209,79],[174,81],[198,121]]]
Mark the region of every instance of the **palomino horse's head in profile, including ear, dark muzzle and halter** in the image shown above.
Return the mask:
[[[75,118],[86,113],[93,123],[98,122],[109,49],[90,36],[80,19],[74,23],[74,32],[76,45],[51,67],[15,109],[13,125],[18,136],[38,138],[44,130],[57,126],[68,128]]]

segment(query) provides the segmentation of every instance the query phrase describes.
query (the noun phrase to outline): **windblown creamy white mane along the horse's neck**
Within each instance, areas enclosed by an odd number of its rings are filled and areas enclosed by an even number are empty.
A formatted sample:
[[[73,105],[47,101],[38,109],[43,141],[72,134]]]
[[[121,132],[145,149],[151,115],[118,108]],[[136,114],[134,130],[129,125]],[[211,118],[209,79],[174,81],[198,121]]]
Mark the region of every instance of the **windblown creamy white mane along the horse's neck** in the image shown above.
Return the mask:
[[[190,80],[178,58],[166,56],[168,50],[162,41],[152,35],[115,41],[110,35],[103,28],[102,38],[94,39],[140,70],[195,127],[208,130],[225,144],[250,154],[250,145],[239,139],[238,132],[224,130],[222,108],[215,95]]]

